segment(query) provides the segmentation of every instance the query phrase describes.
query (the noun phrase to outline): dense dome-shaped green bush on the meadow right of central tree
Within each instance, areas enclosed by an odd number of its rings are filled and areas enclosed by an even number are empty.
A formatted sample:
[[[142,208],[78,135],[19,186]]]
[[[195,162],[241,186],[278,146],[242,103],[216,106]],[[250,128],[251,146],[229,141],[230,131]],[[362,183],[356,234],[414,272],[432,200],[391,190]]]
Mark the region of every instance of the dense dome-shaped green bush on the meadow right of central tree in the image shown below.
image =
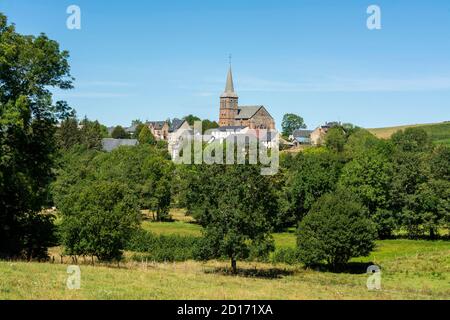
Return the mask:
[[[312,207],[297,231],[299,260],[306,266],[324,261],[335,269],[373,250],[376,226],[367,209],[348,191],[326,194]]]

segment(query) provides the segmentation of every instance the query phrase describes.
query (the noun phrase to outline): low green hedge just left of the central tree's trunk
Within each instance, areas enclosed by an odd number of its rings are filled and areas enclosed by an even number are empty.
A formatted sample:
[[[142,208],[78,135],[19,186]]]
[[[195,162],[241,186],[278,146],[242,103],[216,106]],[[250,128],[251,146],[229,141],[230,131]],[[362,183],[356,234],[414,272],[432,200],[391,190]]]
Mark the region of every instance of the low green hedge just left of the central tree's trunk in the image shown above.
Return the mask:
[[[128,241],[126,249],[143,254],[134,254],[132,259],[147,259],[155,262],[174,262],[194,259],[194,251],[201,238],[179,235],[154,235],[138,230]]]

